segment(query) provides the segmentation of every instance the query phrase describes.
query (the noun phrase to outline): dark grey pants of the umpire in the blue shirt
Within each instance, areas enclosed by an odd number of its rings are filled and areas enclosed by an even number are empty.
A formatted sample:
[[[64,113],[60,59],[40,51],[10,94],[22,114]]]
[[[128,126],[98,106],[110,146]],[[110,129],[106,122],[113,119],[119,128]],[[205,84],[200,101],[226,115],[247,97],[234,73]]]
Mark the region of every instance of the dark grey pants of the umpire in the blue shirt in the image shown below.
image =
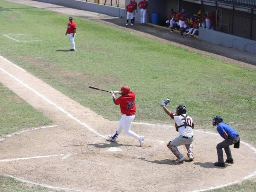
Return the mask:
[[[225,153],[227,155],[227,159],[228,160],[233,160],[231,150],[230,150],[229,146],[235,144],[238,141],[239,141],[239,136],[234,137],[232,139],[224,140],[224,141],[222,141],[221,143],[219,143],[217,145],[216,148],[217,148],[218,162],[219,163],[224,163],[222,148],[224,148],[224,150],[225,150]]]

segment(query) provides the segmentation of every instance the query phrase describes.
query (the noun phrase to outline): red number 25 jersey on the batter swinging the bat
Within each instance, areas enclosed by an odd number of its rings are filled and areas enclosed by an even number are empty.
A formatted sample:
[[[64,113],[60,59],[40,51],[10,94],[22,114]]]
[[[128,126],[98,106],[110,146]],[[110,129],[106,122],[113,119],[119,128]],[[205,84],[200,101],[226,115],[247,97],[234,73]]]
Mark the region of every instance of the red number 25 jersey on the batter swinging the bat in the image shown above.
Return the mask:
[[[136,113],[135,93],[133,91],[130,91],[127,95],[119,96],[114,102],[116,105],[120,105],[122,114],[134,115]]]

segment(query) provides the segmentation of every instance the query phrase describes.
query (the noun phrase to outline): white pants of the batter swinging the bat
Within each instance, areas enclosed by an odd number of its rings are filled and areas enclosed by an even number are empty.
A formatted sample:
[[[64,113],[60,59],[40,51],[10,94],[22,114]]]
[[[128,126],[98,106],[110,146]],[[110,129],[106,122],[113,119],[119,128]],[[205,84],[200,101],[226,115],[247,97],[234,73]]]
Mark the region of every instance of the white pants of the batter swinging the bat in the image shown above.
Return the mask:
[[[124,131],[125,134],[128,134],[129,136],[134,137],[137,140],[140,140],[140,136],[134,133],[133,131],[131,131],[131,122],[133,122],[134,118],[135,118],[135,115],[131,115],[131,116],[122,115],[121,119],[119,120],[117,129],[111,135],[111,137],[113,137],[116,134],[116,132],[118,135],[120,135],[122,131]]]

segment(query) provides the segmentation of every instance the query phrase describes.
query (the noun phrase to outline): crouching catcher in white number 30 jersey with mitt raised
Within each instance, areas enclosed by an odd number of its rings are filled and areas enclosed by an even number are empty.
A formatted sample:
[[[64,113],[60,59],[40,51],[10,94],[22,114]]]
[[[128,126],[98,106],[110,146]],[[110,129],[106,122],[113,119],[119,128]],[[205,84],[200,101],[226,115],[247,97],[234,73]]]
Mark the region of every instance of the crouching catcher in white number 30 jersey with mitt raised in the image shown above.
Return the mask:
[[[183,105],[179,105],[176,110],[176,114],[169,111],[169,109],[166,108],[166,105],[170,102],[170,99],[164,99],[163,102],[161,102],[161,107],[163,107],[164,111],[167,115],[169,115],[172,119],[175,120],[175,128],[176,131],[179,132],[180,136],[175,138],[174,140],[170,141],[167,144],[167,147],[172,151],[173,154],[177,157],[177,160],[175,160],[176,163],[180,163],[183,160],[185,160],[185,157],[183,154],[180,153],[177,146],[185,145],[186,150],[188,151],[188,158],[190,161],[194,160],[194,155],[192,152],[192,141],[194,140],[194,123],[193,119],[190,116],[186,115],[186,107]]]

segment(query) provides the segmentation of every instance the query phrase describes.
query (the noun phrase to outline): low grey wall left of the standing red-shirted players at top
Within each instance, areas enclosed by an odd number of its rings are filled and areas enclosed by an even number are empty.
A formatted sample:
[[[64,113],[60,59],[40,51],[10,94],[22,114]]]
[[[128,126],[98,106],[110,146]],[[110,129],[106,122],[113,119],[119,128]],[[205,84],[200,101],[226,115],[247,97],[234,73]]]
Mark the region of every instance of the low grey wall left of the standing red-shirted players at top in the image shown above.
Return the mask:
[[[113,6],[104,6],[101,4],[90,3],[80,0],[34,0],[44,3],[51,3],[55,5],[70,7],[73,9],[81,9],[90,12],[102,13],[113,17],[126,17],[125,9]]]

